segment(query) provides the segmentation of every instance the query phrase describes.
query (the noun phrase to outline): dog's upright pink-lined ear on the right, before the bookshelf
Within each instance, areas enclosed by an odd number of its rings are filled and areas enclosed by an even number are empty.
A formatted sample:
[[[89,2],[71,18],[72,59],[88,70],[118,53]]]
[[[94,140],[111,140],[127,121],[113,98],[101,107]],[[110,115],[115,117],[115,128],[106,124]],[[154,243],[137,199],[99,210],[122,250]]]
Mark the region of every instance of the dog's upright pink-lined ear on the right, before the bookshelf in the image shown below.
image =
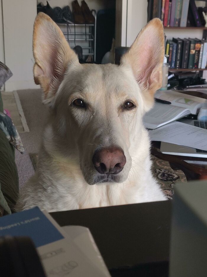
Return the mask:
[[[151,20],[138,34],[121,64],[130,64],[136,80],[153,97],[162,85],[164,32],[159,18]]]

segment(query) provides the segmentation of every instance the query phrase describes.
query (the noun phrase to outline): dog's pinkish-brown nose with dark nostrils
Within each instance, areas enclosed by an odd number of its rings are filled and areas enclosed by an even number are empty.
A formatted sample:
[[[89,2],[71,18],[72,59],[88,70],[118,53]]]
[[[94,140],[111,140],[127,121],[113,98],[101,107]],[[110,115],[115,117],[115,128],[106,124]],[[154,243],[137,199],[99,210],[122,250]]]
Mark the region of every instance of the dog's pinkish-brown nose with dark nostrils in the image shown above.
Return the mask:
[[[93,154],[92,162],[101,174],[118,174],[126,164],[126,157],[121,148],[102,148]]]

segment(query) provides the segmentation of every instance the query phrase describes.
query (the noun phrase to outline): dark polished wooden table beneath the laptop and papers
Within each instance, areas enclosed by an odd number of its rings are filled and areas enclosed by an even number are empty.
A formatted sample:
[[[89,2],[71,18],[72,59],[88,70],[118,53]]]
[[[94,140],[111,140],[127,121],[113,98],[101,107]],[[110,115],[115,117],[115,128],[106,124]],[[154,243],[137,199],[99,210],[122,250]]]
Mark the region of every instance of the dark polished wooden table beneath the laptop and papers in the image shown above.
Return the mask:
[[[207,94],[197,91],[178,91],[187,95],[197,96],[207,99]],[[206,137],[207,139],[207,137]],[[207,164],[193,164],[186,161],[207,162],[207,158],[195,158],[187,156],[176,156],[163,154],[160,152],[160,142],[153,141],[151,154],[157,158],[168,161],[173,170],[182,170],[186,176],[187,181],[205,179],[207,180]]]

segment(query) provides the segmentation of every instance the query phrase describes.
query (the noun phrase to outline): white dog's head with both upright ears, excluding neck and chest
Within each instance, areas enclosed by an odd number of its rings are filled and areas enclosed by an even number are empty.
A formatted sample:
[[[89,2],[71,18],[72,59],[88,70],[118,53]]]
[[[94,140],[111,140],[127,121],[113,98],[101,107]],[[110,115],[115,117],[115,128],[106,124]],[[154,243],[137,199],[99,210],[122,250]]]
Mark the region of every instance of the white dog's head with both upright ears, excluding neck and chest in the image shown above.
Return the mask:
[[[78,154],[85,181],[125,181],[133,151],[140,148],[142,116],[161,87],[161,21],[153,19],[145,26],[120,66],[80,64],[59,27],[39,13],[33,53],[35,83],[53,111],[59,143],[65,153]]]

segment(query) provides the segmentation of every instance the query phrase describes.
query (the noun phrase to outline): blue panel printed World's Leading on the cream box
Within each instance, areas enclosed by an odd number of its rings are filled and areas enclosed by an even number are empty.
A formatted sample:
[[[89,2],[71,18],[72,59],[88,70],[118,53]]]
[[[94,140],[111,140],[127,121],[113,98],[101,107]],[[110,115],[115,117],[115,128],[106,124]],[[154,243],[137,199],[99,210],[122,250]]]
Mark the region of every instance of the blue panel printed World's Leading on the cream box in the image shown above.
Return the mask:
[[[35,246],[61,240],[64,237],[38,207],[0,218],[0,236],[28,236]]]

